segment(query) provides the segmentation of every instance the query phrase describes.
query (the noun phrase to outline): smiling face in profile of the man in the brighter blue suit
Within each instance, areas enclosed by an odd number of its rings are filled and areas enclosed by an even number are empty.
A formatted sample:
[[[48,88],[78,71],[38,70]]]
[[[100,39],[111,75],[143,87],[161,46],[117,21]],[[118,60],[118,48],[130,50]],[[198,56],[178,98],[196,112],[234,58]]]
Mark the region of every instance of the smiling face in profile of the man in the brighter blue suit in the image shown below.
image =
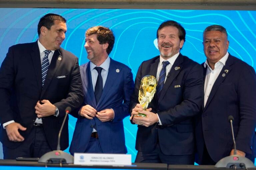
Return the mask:
[[[106,51],[108,43],[100,44],[97,39],[97,34],[86,35],[84,47],[87,52],[87,58],[95,65],[101,63],[102,60],[105,61],[108,57]]]

